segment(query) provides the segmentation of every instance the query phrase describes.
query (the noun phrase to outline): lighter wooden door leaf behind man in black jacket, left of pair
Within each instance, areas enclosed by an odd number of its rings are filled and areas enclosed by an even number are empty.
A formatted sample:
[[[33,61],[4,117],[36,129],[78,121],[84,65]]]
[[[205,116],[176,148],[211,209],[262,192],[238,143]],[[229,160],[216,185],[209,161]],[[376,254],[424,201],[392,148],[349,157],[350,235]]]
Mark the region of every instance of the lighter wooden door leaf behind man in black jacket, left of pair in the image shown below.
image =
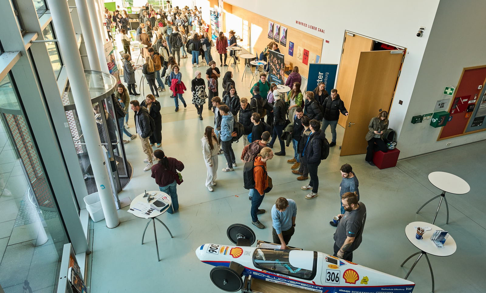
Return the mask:
[[[341,62],[339,63],[339,73],[337,75],[336,89],[339,97],[343,100],[344,106],[349,111],[349,103],[353,94],[354,81],[356,79],[356,70],[362,51],[371,50],[373,40],[354,34],[348,35],[344,39]],[[327,88],[331,94],[332,88]],[[347,116],[339,115],[339,125],[346,127]]]

